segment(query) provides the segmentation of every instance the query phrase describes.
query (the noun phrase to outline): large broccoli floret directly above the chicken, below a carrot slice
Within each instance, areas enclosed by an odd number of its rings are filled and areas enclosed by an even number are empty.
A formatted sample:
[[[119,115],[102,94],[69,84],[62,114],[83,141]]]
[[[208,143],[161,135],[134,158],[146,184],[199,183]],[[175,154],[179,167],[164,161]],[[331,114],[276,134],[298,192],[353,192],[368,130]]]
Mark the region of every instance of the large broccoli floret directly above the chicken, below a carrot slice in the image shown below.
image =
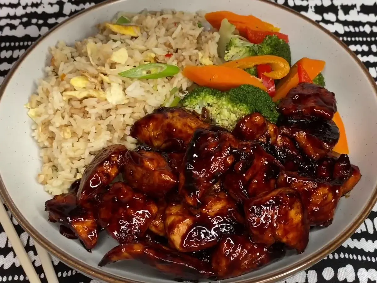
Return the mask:
[[[241,85],[227,92],[196,88],[180,102],[185,108],[200,113],[206,107],[210,118],[219,126],[232,130],[239,119],[259,112],[272,123],[279,113],[267,92],[252,85]]]

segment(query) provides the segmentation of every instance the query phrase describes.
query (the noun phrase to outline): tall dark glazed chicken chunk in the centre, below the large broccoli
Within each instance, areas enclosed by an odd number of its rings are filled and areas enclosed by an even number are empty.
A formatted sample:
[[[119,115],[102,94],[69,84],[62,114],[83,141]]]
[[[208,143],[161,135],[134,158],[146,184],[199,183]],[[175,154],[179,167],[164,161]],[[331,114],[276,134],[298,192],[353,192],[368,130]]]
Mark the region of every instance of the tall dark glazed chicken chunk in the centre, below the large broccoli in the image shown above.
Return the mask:
[[[236,139],[228,132],[195,131],[179,174],[179,194],[187,204],[201,204],[205,191],[232,165],[233,149],[237,147]]]

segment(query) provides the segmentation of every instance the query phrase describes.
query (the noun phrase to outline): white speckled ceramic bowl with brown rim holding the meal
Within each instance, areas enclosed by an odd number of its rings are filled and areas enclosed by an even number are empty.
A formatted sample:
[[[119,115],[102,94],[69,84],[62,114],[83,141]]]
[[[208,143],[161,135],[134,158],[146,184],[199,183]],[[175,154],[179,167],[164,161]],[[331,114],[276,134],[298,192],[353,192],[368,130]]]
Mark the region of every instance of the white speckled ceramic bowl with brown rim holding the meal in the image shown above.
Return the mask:
[[[108,282],[171,282],[136,261],[104,268],[97,264],[115,241],[102,236],[91,254],[78,241],[59,234],[58,225],[47,221],[44,202],[51,198],[35,176],[40,169],[38,147],[31,137],[31,120],[23,105],[35,90],[37,79],[49,62],[48,47],[58,40],[73,44],[95,33],[95,25],[118,11],[173,8],[183,11],[229,10],[253,14],[281,28],[290,37],[292,62],[310,57],[326,61],[326,87],[335,92],[345,123],[351,162],[358,165],[362,180],[342,198],[333,224],[312,231],[305,252],[289,255],[271,265],[224,282],[274,282],[306,269],[345,241],[362,223],[377,199],[377,99],[376,85],[357,57],[325,29],[304,16],[262,0],[112,0],[86,9],[45,34],[23,54],[0,90],[0,194],[23,228],[49,252],[87,275]],[[208,280],[206,280],[207,282]]]

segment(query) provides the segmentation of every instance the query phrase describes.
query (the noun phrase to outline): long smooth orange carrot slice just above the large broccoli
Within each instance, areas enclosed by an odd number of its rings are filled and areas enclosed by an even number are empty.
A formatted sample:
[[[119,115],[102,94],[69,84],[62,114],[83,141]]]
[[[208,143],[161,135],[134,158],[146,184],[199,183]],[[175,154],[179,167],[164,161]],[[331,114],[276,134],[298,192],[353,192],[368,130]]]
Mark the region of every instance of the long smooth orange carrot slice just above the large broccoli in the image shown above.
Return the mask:
[[[267,88],[258,78],[238,68],[215,65],[186,66],[182,74],[199,86],[207,86],[220,91],[228,91],[231,88],[245,84],[267,91]]]

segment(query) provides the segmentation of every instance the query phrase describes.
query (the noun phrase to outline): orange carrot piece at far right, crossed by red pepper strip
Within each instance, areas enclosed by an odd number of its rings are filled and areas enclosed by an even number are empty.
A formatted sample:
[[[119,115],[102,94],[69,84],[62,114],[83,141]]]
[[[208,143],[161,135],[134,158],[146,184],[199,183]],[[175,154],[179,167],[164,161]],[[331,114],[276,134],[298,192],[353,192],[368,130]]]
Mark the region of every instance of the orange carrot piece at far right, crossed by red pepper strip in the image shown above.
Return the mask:
[[[311,80],[323,71],[326,62],[322,60],[315,60],[310,58],[302,58],[294,64],[289,74],[284,77],[276,86],[276,94],[273,97],[273,101],[277,102],[287,95],[287,93],[299,84],[299,75],[297,66],[301,64],[305,71],[308,73]]]

